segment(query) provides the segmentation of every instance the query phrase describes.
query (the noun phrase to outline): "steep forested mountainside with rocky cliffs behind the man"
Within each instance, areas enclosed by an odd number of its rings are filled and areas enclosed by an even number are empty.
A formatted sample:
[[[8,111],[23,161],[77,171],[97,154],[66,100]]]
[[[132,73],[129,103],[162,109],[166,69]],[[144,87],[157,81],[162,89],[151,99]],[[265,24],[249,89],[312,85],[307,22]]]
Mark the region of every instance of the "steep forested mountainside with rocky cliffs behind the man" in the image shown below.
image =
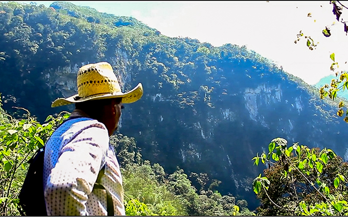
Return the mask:
[[[134,18],[68,2],[0,2],[0,93],[15,117],[13,106],[40,121],[72,111],[51,103],[76,94],[78,69],[100,61],[113,66],[123,90],[143,84],[119,131],[135,138],[144,159],[168,173],[207,173],[221,181],[220,193],[246,199],[250,209],[259,204],[251,183],[263,169],[251,159],[273,138],[348,159],[337,105],[245,46],[171,38]]]

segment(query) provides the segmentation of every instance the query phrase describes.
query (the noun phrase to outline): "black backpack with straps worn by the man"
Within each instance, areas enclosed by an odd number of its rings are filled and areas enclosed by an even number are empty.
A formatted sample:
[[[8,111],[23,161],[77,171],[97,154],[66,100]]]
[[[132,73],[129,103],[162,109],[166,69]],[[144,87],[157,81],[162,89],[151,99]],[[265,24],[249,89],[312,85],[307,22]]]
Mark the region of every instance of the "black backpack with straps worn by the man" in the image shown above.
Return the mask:
[[[70,119],[69,119],[70,120]],[[67,120],[66,120],[67,121]],[[29,168],[27,176],[23,182],[22,189],[18,195],[18,211],[22,216],[47,216],[45,195],[44,195],[44,183],[43,183],[43,170],[44,170],[44,156],[45,146],[39,148],[33,157],[28,160]],[[96,183],[93,189],[104,189],[104,186],[100,183],[100,179],[105,171],[105,165],[100,170]],[[107,216],[114,215],[113,201],[111,194],[107,193]]]

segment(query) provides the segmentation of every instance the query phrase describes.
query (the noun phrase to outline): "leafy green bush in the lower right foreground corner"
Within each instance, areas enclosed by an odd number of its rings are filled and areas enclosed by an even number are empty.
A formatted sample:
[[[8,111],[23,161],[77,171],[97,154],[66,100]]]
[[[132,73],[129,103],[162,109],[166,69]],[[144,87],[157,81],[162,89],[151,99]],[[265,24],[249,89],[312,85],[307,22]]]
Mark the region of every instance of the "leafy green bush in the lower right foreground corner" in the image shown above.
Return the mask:
[[[276,138],[265,151],[252,160],[268,165],[254,179],[253,190],[261,199],[259,215],[348,215],[348,164],[331,149],[287,147]]]

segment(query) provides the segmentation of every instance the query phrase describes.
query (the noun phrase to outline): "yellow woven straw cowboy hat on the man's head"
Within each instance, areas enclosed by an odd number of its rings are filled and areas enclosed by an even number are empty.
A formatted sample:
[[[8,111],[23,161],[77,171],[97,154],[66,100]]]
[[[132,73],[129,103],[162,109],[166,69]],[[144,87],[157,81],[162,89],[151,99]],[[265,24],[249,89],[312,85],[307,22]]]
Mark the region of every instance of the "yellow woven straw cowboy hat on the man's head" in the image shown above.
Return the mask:
[[[68,105],[87,100],[122,97],[122,103],[132,103],[143,95],[141,83],[131,91],[122,93],[116,75],[107,62],[82,66],[77,77],[78,94],[68,98],[58,98],[52,107]]]

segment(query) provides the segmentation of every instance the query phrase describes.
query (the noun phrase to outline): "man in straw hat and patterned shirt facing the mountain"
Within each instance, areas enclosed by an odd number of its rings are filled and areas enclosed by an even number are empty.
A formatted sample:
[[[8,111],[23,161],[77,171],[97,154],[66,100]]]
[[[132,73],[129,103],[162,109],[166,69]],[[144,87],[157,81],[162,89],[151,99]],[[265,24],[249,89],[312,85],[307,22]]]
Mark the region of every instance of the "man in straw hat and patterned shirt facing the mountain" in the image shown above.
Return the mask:
[[[82,66],[77,86],[77,95],[52,103],[52,107],[76,103],[76,109],[45,147],[47,214],[105,216],[112,198],[114,214],[125,215],[121,172],[109,136],[117,127],[123,103],[138,100],[142,85],[122,93],[111,65],[101,62]],[[97,180],[105,190],[93,188]]]

